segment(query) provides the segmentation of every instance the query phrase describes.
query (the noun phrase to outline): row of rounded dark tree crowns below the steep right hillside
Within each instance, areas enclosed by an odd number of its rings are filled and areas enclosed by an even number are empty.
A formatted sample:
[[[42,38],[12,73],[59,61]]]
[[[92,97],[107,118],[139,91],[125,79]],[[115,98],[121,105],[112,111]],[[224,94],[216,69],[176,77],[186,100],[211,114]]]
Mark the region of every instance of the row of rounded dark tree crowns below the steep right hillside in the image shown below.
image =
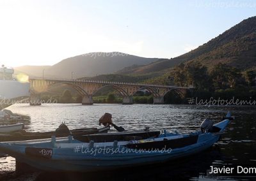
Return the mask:
[[[176,85],[193,85],[196,90],[207,91],[253,86],[255,85],[253,75],[255,75],[253,71],[244,75],[241,70],[221,63],[214,66],[212,71],[208,71],[202,64],[194,62],[180,64],[170,73]]]

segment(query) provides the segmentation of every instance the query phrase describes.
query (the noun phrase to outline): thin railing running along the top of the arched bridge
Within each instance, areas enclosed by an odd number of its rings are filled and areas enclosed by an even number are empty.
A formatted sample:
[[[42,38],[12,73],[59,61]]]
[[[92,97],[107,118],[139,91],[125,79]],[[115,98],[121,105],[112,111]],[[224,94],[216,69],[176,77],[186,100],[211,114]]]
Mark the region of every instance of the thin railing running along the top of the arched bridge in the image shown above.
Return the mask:
[[[35,77],[29,76],[29,81],[31,80],[45,80],[45,81],[63,81],[63,82],[84,82],[84,83],[108,83],[114,85],[138,85],[138,86],[145,86],[145,87],[166,87],[166,88],[173,88],[173,89],[191,89],[192,86],[189,87],[181,87],[176,85],[156,85],[156,84],[147,84],[147,83],[129,83],[129,82],[108,82],[105,80],[78,80],[78,79],[68,79],[68,78],[42,78],[42,77]]]

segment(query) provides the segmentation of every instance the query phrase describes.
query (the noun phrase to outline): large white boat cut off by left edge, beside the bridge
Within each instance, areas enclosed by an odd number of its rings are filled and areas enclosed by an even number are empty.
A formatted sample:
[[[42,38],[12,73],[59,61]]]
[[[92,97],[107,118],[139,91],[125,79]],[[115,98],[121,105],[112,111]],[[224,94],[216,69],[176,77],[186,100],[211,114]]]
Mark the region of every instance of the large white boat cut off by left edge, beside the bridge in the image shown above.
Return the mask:
[[[30,83],[26,78],[13,78],[13,73],[13,68],[0,68],[0,110],[29,98]]]

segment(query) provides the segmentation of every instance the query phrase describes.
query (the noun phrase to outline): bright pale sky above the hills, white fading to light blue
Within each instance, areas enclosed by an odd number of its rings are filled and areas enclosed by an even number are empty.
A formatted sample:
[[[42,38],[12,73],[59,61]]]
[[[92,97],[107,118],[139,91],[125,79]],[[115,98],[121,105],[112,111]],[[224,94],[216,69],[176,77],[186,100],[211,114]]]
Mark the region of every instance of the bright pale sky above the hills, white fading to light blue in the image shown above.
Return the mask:
[[[0,0],[0,64],[90,52],[172,58],[256,15],[256,1]]]

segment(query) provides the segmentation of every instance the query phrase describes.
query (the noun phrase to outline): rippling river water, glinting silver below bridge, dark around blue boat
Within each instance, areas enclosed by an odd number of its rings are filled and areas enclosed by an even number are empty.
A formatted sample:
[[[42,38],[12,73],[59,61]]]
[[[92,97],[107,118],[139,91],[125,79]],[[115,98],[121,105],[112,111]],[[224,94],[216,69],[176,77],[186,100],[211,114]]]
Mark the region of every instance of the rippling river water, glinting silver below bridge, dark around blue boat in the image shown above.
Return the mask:
[[[140,130],[150,126],[153,130],[167,129],[189,133],[200,127],[202,120],[209,118],[219,122],[228,110],[236,120],[228,126],[227,134],[205,152],[192,157],[161,165],[131,168],[108,173],[19,173],[15,170],[15,159],[1,159],[0,180],[216,180],[207,175],[210,166],[221,164],[251,164],[256,166],[256,109],[255,107],[207,107],[188,105],[107,105],[95,104],[45,104],[29,106],[17,104],[8,109],[15,113],[29,115],[28,131],[52,131],[61,122],[70,129],[100,127],[99,118],[105,112],[111,113],[113,122],[127,130]],[[222,178],[221,178],[222,179]],[[240,178],[227,178],[238,180]],[[243,178],[248,179],[248,178]],[[254,178],[250,178],[253,180]]]

